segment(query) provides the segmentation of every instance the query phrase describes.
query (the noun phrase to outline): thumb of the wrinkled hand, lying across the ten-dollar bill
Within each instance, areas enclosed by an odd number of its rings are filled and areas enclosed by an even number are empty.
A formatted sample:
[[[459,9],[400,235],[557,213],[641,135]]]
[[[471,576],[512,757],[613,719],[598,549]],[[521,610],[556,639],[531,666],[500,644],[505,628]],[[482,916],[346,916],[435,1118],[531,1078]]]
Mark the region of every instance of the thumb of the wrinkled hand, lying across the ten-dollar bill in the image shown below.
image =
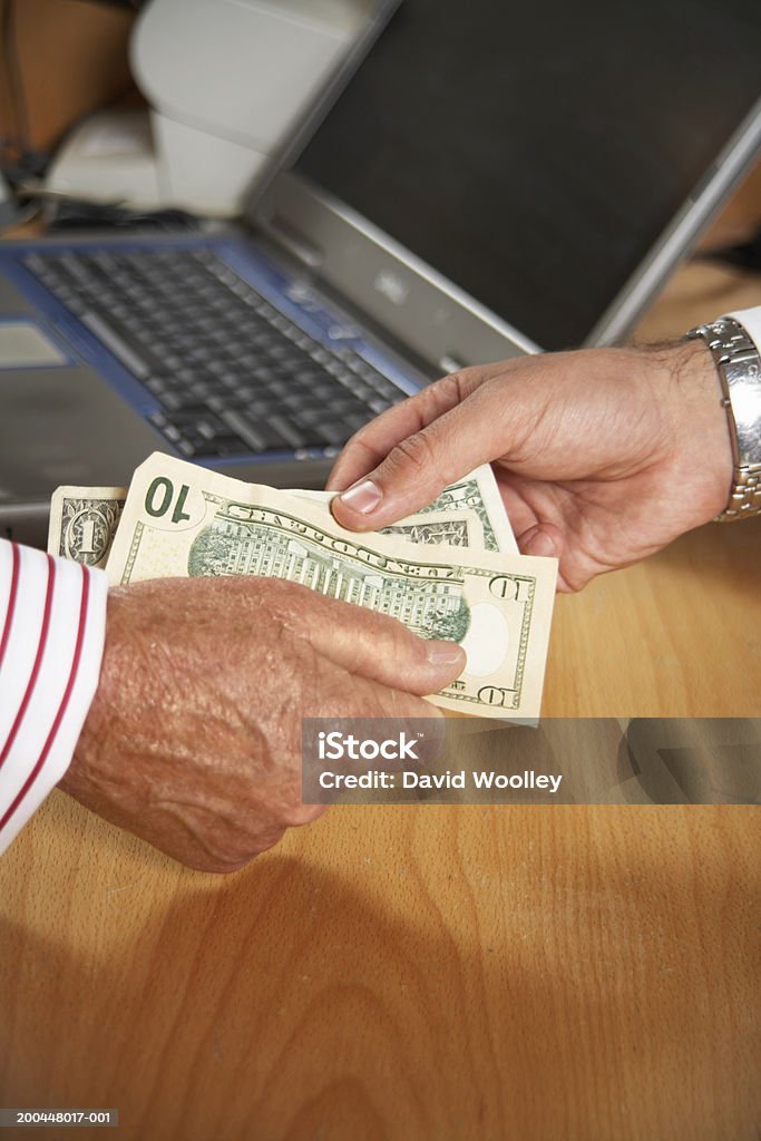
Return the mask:
[[[418,638],[396,618],[323,594],[309,592],[285,616],[292,631],[333,664],[410,694],[444,689],[467,664],[455,642]]]

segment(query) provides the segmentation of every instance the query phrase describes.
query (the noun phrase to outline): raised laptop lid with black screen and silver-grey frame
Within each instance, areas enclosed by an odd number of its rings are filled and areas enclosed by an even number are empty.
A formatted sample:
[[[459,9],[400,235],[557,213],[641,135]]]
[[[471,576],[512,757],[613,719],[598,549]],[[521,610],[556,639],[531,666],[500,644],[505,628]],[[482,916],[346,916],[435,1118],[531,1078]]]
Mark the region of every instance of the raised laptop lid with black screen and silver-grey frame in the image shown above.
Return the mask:
[[[443,369],[609,342],[753,161],[760,55],[747,0],[404,0],[257,219]]]

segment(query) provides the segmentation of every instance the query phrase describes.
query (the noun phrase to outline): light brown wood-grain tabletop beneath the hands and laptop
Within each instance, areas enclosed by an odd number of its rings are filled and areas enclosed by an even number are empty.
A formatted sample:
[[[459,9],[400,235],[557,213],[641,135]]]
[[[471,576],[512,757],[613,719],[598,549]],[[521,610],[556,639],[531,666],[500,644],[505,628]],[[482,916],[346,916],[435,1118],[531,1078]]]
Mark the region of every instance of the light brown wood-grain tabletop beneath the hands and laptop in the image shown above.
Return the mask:
[[[639,335],[759,301],[695,264]],[[761,715],[760,567],[761,520],[710,526],[560,598],[545,713]],[[0,861],[0,1106],[118,1108],[92,1141],[758,1141],[759,849],[755,808],[337,808],[219,879],[55,793]]]

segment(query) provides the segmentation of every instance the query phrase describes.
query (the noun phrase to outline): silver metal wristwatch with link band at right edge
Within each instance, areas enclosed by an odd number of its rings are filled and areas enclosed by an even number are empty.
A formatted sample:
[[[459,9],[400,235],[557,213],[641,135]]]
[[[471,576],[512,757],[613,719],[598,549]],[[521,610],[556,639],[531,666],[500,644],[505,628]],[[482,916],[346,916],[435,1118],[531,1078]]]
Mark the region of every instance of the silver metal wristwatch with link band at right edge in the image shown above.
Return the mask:
[[[723,389],[735,460],[727,507],[717,523],[761,515],[761,355],[734,317],[698,325],[688,338],[709,346]]]

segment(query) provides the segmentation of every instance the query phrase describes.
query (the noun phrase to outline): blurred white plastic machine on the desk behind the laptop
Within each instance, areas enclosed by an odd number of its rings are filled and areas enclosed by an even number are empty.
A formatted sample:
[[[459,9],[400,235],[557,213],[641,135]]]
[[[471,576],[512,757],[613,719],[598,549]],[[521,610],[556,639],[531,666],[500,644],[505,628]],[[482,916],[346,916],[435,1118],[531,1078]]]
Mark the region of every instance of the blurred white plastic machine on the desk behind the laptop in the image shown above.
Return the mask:
[[[130,43],[148,106],[79,124],[46,189],[236,217],[298,155],[397,2],[152,0]]]

